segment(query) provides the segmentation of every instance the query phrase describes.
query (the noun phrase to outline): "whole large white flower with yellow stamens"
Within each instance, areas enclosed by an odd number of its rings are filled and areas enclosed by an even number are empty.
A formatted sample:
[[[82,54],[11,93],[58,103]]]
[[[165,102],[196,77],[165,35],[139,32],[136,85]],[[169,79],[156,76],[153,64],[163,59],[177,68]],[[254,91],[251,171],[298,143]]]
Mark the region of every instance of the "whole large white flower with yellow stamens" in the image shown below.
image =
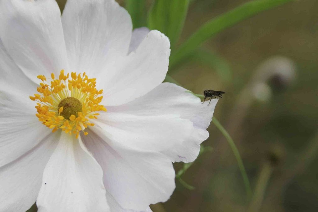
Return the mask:
[[[0,39],[0,211],[35,201],[39,211],[150,211],[169,199],[172,162],[195,160],[217,100],[162,83],[166,36],[132,32],[114,0],[68,0],[62,17],[54,0],[1,0]],[[45,94],[51,73],[60,80]],[[70,96],[82,107],[61,109]]]

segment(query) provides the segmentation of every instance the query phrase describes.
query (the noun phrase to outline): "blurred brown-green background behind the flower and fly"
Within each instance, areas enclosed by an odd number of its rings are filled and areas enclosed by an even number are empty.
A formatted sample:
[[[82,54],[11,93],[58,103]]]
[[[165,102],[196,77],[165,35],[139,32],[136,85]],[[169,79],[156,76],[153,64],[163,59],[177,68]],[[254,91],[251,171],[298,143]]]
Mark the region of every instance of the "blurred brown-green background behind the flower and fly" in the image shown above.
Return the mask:
[[[63,9],[66,1],[57,1]],[[129,1],[118,2],[129,7]],[[154,1],[142,2],[145,12],[134,27],[149,26]],[[247,2],[190,1],[172,54],[205,22]],[[197,94],[226,92],[214,116],[232,136],[252,192],[247,195],[232,149],[211,123],[202,144],[208,151],[182,174],[185,183],[176,179],[169,201],[151,206],[154,212],[318,211],[317,11],[316,0],[261,11],[170,66],[168,81]],[[182,168],[175,164],[176,173]]]

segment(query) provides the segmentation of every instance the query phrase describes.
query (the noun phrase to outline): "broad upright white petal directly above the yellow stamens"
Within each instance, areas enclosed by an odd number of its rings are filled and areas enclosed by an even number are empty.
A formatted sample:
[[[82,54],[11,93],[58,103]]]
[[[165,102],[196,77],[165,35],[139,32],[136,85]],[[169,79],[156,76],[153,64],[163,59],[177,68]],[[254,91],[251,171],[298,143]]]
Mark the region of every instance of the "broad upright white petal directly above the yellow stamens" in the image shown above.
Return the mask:
[[[97,77],[111,71],[106,63],[127,55],[132,23],[114,0],[68,0],[62,23],[72,71]]]

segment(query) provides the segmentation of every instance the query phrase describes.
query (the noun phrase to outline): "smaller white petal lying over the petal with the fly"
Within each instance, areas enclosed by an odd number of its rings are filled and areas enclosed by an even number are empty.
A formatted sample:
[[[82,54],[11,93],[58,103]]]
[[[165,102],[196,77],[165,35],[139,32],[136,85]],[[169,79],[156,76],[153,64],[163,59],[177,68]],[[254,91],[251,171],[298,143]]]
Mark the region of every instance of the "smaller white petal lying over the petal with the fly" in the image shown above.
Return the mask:
[[[194,129],[189,120],[180,119],[177,114],[136,116],[107,112],[100,113],[92,122],[112,140],[127,147],[156,152],[181,145]]]

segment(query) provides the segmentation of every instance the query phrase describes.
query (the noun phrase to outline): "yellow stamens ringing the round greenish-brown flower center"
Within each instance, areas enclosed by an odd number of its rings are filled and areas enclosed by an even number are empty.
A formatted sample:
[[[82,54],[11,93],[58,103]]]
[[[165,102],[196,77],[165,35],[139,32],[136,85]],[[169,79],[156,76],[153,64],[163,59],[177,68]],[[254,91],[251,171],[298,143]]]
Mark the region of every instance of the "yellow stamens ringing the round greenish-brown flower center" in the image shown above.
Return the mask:
[[[43,82],[37,88],[38,93],[30,96],[30,99],[37,101],[36,116],[52,132],[61,129],[65,133],[75,134],[78,138],[79,131],[84,135],[87,126],[94,126],[89,119],[97,119],[99,113],[96,111],[106,111],[100,105],[103,90],[96,90],[96,79],[89,79],[85,72],[83,74],[69,73],[64,75],[64,70],[60,72],[59,79],[55,79],[51,74],[51,85],[48,85],[46,77],[39,75],[38,79]]]

